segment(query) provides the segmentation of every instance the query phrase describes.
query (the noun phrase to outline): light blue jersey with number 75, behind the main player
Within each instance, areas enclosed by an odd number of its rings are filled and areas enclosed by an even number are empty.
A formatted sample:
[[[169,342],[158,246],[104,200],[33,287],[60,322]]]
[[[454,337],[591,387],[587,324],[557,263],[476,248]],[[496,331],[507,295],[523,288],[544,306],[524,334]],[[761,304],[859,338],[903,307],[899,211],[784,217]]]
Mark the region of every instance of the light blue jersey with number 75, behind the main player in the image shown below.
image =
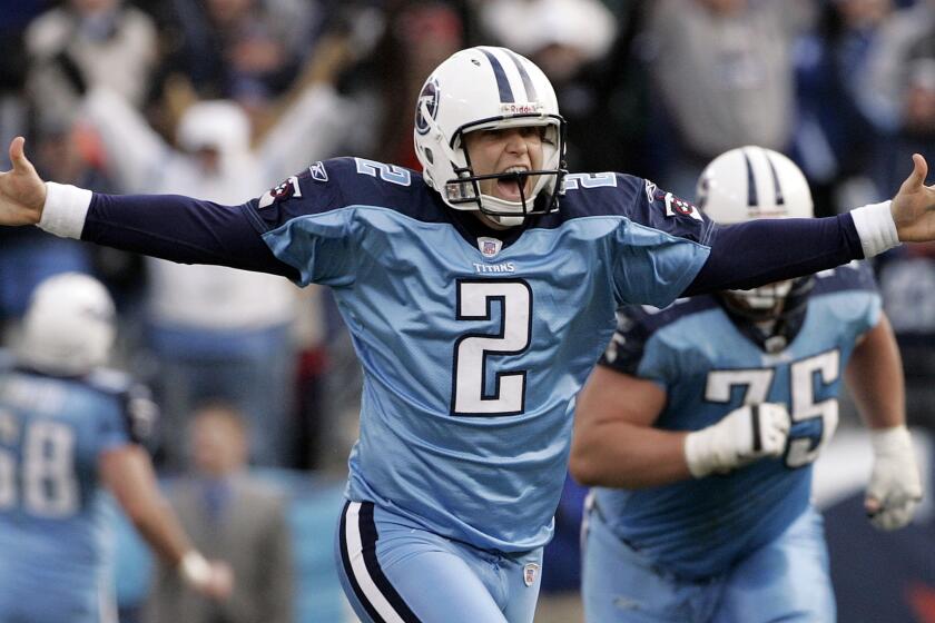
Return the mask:
[[[793,427],[783,457],[728,475],[640,491],[597,488],[608,530],[682,578],[724,574],[786,532],[808,508],[811,464],[837,425],[842,374],[879,313],[873,277],[856,263],[815,278],[807,306],[783,320],[788,344],[771,353],[712,296],[661,312],[622,310],[602,364],[666,390],[657,427],[697,431],[745,403],[767,400],[788,405]]]

